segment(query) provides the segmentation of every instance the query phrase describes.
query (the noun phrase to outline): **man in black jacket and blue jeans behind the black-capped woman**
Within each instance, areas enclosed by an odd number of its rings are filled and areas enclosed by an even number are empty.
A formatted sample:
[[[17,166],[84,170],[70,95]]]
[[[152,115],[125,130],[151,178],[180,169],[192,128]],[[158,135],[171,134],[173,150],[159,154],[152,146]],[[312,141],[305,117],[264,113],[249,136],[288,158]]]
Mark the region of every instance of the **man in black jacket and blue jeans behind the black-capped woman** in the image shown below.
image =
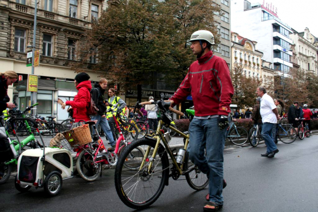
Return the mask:
[[[109,127],[105,111],[106,111],[106,105],[104,100],[104,93],[105,89],[107,88],[107,80],[105,78],[100,79],[99,83],[95,85],[95,88],[92,89],[91,95],[92,99],[99,109],[97,111],[97,115],[94,115],[91,117],[91,120],[97,120],[97,126],[98,124],[101,126],[102,130],[104,131],[105,135],[107,136],[107,139],[109,140],[110,144],[115,147],[115,140],[113,137],[113,133],[111,131],[111,128]],[[104,143],[104,146],[105,143]]]

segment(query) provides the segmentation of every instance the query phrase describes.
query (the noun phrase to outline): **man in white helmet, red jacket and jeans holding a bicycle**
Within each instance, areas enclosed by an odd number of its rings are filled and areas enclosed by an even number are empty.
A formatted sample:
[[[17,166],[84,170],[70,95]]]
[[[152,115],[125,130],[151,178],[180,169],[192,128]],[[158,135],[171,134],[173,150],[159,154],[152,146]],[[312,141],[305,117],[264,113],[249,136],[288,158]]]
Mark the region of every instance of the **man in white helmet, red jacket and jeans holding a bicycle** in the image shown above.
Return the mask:
[[[213,34],[196,31],[190,42],[197,60],[190,65],[171,100],[175,106],[192,96],[195,116],[189,126],[189,157],[209,178],[209,202],[203,210],[217,211],[223,206],[223,149],[234,90],[227,63],[210,50]]]

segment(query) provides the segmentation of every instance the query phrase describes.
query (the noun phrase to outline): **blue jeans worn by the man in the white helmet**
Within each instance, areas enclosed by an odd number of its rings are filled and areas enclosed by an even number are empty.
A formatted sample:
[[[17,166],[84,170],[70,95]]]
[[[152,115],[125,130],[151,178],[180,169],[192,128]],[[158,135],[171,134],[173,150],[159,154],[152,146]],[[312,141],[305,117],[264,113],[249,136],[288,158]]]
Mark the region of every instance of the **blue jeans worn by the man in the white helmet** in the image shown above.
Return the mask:
[[[223,205],[223,150],[226,128],[220,130],[217,118],[193,118],[189,133],[189,157],[209,178],[210,201]]]

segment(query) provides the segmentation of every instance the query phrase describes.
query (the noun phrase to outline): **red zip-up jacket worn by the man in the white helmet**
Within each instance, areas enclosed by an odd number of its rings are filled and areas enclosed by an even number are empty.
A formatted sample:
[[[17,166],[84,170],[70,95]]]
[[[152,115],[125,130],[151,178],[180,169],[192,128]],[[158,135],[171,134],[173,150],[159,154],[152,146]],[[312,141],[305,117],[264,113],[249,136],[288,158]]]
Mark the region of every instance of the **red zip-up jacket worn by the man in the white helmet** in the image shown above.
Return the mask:
[[[209,51],[190,65],[187,75],[170,99],[174,106],[191,94],[196,116],[228,115],[233,93],[227,63]]]

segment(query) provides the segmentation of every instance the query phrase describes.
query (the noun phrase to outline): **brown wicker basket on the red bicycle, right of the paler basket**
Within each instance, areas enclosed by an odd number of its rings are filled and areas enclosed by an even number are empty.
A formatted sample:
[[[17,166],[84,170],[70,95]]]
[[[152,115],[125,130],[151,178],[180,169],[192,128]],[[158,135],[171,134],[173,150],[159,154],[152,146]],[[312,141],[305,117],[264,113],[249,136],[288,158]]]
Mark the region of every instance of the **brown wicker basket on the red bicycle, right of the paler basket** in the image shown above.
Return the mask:
[[[92,142],[88,124],[83,124],[71,130],[62,132],[62,134],[72,147],[74,145],[84,145]]]

